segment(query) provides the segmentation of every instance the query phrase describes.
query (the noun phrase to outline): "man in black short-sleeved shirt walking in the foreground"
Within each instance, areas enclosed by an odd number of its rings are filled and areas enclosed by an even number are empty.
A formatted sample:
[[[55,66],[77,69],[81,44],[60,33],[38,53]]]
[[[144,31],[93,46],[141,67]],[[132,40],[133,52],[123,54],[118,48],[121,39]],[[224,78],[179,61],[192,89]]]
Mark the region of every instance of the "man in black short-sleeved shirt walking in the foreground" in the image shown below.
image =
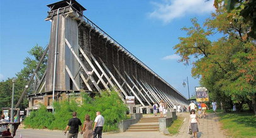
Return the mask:
[[[70,127],[69,134],[67,134],[67,138],[72,138],[72,137],[77,138],[79,125],[80,125],[80,129],[82,130],[81,120],[77,118],[77,112],[73,112],[73,118],[69,119],[69,124],[67,124],[67,127],[64,131],[64,135],[66,135],[67,130]]]

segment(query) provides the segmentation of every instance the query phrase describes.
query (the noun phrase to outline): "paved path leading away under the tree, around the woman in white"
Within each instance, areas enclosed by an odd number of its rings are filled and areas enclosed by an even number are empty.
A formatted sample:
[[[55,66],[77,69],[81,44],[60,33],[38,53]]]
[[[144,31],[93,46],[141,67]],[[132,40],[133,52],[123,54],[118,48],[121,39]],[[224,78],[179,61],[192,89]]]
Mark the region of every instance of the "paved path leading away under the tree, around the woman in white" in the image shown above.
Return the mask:
[[[189,113],[178,113],[177,115],[184,117],[184,123],[179,130],[179,134],[173,135],[172,137],[193,137],[193,135],[187,134],[187,129],[189,128]],[[221,127],[218,119],[219,118],[215,114],[207,114],[206,119],[199,119],[200,124],[198,126],[198,137],[226,137],[223,134],[223,130],[220,129]]]

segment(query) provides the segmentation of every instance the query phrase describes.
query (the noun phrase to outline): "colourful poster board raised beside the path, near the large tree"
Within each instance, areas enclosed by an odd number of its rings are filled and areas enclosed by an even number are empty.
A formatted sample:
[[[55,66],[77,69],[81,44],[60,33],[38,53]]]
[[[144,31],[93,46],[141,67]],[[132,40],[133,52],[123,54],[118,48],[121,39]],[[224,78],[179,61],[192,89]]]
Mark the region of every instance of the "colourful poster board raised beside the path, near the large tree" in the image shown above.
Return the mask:
[[[206,87],[195,87],[196,88],[196,102],[208,102],[209,95]]]

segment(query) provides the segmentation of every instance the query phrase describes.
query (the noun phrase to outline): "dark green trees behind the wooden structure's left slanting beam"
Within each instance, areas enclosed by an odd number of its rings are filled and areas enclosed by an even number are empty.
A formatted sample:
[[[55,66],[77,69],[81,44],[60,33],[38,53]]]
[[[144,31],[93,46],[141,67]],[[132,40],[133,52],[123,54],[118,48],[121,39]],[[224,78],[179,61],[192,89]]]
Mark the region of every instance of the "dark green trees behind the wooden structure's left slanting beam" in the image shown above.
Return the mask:
[[[30,57],[26,57],[23,61],[24,68],[21,72],[16,73],[16,82],[14,86],[14,105],[18,102],[21,93],[25,89],[27,80],[31,77],[31,74],[34,72],[38,61],[43,55],[42,46],[33,46],[30,51],[28,51]],[[42,77],[43,73],[46,70],[47,58],[43,60],[40,70],[37,72],[38,77]],[[13,90],[13,78],[8,78],[7,80],[0,82],[0,108],[2,107],[11,107],[11,93]],[[33,85],[28,90],[28,94],[33,92]],[[28,100],[23,98],[23,102],[19,105],[21,109],[28,107]]]

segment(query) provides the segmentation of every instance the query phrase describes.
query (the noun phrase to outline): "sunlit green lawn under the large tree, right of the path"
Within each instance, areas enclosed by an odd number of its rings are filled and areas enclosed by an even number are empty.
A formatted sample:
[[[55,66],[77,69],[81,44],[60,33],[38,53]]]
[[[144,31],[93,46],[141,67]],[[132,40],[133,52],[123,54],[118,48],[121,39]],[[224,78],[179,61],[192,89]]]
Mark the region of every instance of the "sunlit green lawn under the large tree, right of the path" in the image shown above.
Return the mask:
[[[231,137],[256,137],[256,117],[247,112],[221,113],[222,128]]]

